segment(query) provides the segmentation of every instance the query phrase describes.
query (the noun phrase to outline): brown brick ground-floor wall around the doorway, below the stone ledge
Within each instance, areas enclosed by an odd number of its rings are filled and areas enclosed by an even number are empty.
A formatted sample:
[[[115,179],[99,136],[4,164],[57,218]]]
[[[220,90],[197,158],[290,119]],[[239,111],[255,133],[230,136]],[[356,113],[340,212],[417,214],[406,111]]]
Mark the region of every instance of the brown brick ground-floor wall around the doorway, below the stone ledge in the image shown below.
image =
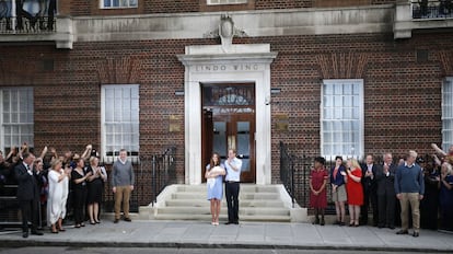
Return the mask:
[[[432,152],[441,142],[441,84],[453,76],[452,33],[415,33],[394,41],[392,34],[236,38],[234,43],[269,43],[278,57],[271,64],[272,115],[286,114],[289,129],[272,127],[272,182],[279,182],[278,142],[320,153],[320,103],[323,79],[364,80],[365,153],[395,155],[416,149]],[[55,46],[0,46],[0,86],[35,88],[35,146],[82,151],[100,145],[101,85],[140,84],[142,154],[177,148],[178,182],[184,182],[184,67],[176,54],[186,45],[214,39],[76,43]],[[427,58],[417,58],[423,50]],[[44,68],[53,61],[54,69]],[[107,68],[113,66],[115,68]],[[352,66],[342,68],[341,66]],[[124,67],[124,68],[121,68]],[[176,116],[182,131],[170,132]],[[272,119],[275,123],[276,119]]]

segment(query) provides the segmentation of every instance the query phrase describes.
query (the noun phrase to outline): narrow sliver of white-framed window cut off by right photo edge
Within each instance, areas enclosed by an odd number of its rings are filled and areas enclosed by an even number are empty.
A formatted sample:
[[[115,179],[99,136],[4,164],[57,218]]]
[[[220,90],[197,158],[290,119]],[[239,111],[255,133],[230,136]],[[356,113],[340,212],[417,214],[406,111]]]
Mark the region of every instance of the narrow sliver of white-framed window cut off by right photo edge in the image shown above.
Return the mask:
[[[449,151],[453,145],[453,77],[442,85],[442,150]]]

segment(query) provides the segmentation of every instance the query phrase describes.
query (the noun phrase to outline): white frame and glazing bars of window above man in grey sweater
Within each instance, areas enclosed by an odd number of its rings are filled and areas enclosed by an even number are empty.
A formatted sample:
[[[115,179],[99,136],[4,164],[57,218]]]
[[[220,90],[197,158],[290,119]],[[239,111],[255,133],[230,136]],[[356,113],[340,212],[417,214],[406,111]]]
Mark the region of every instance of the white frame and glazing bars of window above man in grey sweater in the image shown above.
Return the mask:
[[[111,149],[107,149],[107,135],[112,134],[107,134],[107,124],[106,124],[106,114],[108,113],[106,109],[106,100],[107,99],[107,94],[106,94],[106,90],[115,90],[115,91],[119,91],[119,90],[136,90],[137,91],[137,102],[136,104],[130,106],[130,112],[126,113],[121,113],[121,114],[114,114],[115,118],[119,118],[118,122],[113,122],[114,124],[120,124],[124,123],[121,119],[124,118],[124,115],[126,114],[130,114],[130,125],[131,125],[131,132],[130,134],[136,134],[138,135],[137,137],[137,143],[123,143],[125,141],[125,136],[127,135],[127,132],[117,132],[121,136],[121,141],[120,143],[108,143],[108,146],[114,146],[115,148],[113,149],[113,151],[108,151]],[[131,95],[133,96],[133,95]],[[124,100],[119,100],[119,101],[115,101],[114,105],[123,105],[125,101]],[[129,101],[127,101],[127,103],[131,103],[131,97],[129,97]],[[140,151],[140,86],[139,84],[105,84],[102,85],[101,88],[101,154],[104,159],[104,161],[106,163],[113,163],[116,158],[119,154],[119,150],[120,149],[126,149],[128,152],[129,158],[132,159],[132,161],[138,161],[139,160],[139,151]],[[137,108],[135,108],[137,107]],[[112,114],[112,113],[111,113]],[[135,117],[132,117],[132,114],[135,114]],[[133,118],[136,118],[137,120],[135,122]],[[129,135],[130,135],[129,134]],[[127,139],[127,138],[126,138]],[[131,142],[133,142],[133,138],[129,138]],[[136,148],[136,149],[133,149]],[[137,154],[130,154],[130,152],[137,152]],[[107,152],[113,152],[113,154],[107,154]]]

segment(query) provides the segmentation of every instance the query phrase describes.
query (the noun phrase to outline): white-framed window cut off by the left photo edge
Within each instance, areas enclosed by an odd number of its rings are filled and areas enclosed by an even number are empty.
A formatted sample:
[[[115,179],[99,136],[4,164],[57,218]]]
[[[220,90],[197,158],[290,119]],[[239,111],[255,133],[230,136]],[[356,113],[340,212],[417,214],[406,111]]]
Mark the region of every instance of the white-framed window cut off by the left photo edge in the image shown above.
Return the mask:
[[[7,155],[12,147],[26,142],[34,148],[33,88],[1,88],[0,147]]]

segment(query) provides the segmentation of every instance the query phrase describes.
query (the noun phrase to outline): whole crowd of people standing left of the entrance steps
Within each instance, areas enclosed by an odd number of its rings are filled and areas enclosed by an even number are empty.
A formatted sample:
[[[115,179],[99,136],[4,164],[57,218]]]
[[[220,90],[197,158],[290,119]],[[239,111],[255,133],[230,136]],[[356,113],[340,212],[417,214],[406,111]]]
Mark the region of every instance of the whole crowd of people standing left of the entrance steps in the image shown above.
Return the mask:
[[[23,238],[31,233],[63,232],[63,220],[71,212],[74,228],[101,223],[100,211],[107,181],[107,172],[98,164],[96,150],[88,145],[80,155],[67,151],[58,155],[56,149],[45,147],[38,158],[24,143],[11,148],[7,157],[0,151],[0,183],[16,185],[16,189],[0,188],[1,195],[16,196],[22,219]],[[112,166],[112,192],[115,195],[115,223],[119,220],[121,204],[124,220],[129,217],[129,196],[133,190],[133,170],[127,151],[120,150]]]

